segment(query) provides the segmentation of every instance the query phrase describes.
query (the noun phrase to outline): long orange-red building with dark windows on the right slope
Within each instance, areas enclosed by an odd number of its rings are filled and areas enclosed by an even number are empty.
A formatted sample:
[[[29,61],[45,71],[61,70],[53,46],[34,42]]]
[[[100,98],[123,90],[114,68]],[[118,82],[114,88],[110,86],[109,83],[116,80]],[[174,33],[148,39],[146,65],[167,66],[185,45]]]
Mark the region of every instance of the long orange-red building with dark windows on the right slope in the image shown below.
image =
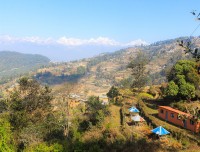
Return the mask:
[[[193,116],[188,113],[168,106],[159,106],[158,116],[177,126],[181,126],[196,133],[200,132],[200,122],[195,121]],[[181,116],[184,116],[186,119],[181,119]]]

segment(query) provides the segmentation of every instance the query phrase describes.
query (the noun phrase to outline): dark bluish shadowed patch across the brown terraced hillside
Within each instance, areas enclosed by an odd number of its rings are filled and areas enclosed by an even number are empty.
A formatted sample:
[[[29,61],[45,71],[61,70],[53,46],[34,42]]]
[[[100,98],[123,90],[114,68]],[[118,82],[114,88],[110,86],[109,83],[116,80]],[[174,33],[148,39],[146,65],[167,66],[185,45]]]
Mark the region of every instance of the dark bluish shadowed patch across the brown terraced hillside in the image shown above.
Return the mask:
[[[51,72],[37,73],[35,79],[41,83],[48,85],[62,84],[65,82],[77,82],[85,74],[71,74],[71,75],[53,75]]]

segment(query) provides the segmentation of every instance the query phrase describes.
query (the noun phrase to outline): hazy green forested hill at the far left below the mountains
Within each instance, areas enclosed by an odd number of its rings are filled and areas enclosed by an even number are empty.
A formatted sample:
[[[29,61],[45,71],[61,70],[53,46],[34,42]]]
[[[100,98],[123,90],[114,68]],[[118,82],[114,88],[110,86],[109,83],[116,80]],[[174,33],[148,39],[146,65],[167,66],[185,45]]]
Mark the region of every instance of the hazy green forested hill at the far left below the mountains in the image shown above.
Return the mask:
[[[11,51],[0,51],[0,79],[1,83],[10,78],[35,70],[47,65],[49,59],[41,55],[22,54]]]

